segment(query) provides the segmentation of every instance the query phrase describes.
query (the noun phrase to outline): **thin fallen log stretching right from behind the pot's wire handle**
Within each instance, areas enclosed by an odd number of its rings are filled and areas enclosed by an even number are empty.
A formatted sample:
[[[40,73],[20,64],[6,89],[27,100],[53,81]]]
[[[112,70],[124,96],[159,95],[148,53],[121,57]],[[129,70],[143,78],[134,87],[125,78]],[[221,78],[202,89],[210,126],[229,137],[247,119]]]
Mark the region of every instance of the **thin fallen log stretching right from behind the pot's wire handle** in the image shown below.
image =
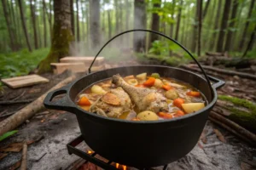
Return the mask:
[[[189,65],[189,66],[198,67],[197,65]],[[216,71],[218,73],[229,75],[229,76],[238,76],[238,77],[242,77],[242,78],[256,80],[256,76],[253,75],[253,74],[247,74],[247,73],[244,73],[244,72],[219,69],[219,68],[212,67],[212,66],[207,66],[207,65],[201,65],[201,67],[203,69],[206,69],[206,70],[209,70],[209,71]]]

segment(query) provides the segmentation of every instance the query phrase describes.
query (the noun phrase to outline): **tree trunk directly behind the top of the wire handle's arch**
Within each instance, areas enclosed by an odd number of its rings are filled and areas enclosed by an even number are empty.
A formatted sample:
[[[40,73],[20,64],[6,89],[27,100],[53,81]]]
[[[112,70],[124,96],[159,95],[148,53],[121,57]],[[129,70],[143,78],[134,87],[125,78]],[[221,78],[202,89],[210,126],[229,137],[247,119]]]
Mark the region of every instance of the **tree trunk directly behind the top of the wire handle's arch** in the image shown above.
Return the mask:
[[[144,0],[134,0],[134,29],[146,29],[146,3]],[[133,48],[136,52],[144,52],[146,47],[146,33],[133,33]]]

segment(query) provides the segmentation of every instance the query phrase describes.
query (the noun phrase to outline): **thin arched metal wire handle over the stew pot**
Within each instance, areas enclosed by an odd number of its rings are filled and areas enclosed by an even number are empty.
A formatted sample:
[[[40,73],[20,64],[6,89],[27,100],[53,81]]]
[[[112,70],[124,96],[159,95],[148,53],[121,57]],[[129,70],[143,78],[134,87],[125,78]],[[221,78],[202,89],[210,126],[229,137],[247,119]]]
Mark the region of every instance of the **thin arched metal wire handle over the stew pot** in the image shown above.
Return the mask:
[[[172,39],[172,37],[167,37],[165,34],[162,34],[162,33],[158,32],[158,31],[152,31],[152,30],[146,30],[146,29],[134,29],[134,30],[123,31],[123,32],[117,34],[116,36],[112,37],[110,40],[108,40],[108,42],[106,42],[106,43],[102,46],[102,48],[100,49],[100,51],[96,54],[95,58],[94,58],[93,61],[91,62],[90,67],[89,67],[89,69],[88,69],[88,72],[90,73],[90,69],[91,69],[92,65],[94,64],[94,62],[95,62],[97,56],[102,52],[102,49],[105,48],[105,47],[108,45],[109,42],[112,42],[113,39],[115,39],[116,37],[119,37],[119,36],[121,36],[121,35],[123,35],[123,34],[129,33],[129,32],[132,32],[132,31],[146,31],[146,32],[151,32],[151,33],[160,35],[160,36],[162,36],[162,37],[166,37],[168,40],[171,40],[172,42],[175,42],[179,47],[183,48],[183,50],[184,50],[185,52],[187,52],[187,53],[189,54],[189,56],[190,56],[192,59],[194,59],[196,65],[198,65],[198,67],[201,69],[203,75],[204,75],[204,76],[206,77],[206,79],[207,79],[207,83],[208,83],[208,85],[209,85],[209,88],[211,89],[211,93],[212,93],[212,96],[213,96],[213,88],[212,88],[212,85],[211,85],[211,82],[210,82],[209,78],[207,77],[207,73],[206,73],[206,71],[204,71],[204,69],[201,67],[201,65],[199,64],[199,62],[195,59],[195,57],[193,57],[193,55],[189,53],[189,50],[188,50],[187,48],[184,48],[182,44],[180,44],[180,43],[177,42],[176,40]]]

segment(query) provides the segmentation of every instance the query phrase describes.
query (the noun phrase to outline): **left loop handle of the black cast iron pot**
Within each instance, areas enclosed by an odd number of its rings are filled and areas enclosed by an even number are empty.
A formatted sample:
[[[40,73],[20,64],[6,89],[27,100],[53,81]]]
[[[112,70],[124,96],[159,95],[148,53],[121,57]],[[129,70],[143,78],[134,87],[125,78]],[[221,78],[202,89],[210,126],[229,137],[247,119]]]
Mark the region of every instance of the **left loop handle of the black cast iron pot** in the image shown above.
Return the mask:
[[[60,94],[65,94],[65,96],[61,99],[52,101],[52,99]],[[70,102],[70,99],[67,98],[67,86],[49,92],[44,99],[44,106],[47,109],[72,112],[74,105]]]

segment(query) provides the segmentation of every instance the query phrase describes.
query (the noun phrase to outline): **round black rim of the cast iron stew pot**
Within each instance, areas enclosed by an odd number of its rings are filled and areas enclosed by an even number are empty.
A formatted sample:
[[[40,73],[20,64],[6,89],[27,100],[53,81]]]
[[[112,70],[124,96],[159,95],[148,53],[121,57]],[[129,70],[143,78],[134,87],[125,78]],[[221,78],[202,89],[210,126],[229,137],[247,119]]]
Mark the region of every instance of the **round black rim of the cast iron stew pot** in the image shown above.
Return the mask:
[[[176,70],[180,70],[180,71],[186,71],[186,70],[183,70],[183,69],[180,69],[180,68],[177,68],[177,67],[172,67],[172,66],[164,66],[164,65],[127,65],[127,66],[120,66],[120,67],[114,67],[114,68],[110,68],[110,69],[106,69],[106,70],[103,70],[103,71],[109,71],[109,70],[114,70],[114,69],[118,69],[118,68],[125,68],[125,67],[137,67],[137,66],[147,66],[147,67],[162,67],[162,68],[172,68],[172,69],[176,69]],[[93,72],[93,73],[90,73],[90,74],[87,74],[85,75],[84,77],[88,77],[90,75],[93,75],[93,74],[96,74],[98,72],[103,72],[103,71],[96,71],[96,72]],[[192,71],[186,71],[186,72],[189,72],[190,74],[193,74],[193,76],[195,77],[199,77],[201,79],[203,79],[204,81],[206,81],[204,79],[204,77],[200,77],[199,75],[195,74],[194,72]],[[165,119],[165,120],[157,120],[157,121],[131,121],[131,120],[125,120],[125,119],[118,119],[118,118],[113,118],[113,117],[105,117],[105,116],[99,116],[97,115],[96,113],[91,113],[90,111],[84,111],[82,108],[80,108],[78,105],[75,104],[75,102],[73,102],[72,99],[70,99],[70,90],[71,88],[73,88],[74,84],[79,82],[79,80],[83,79],[84,77],[81,77],[79,79],[77,79],[76,81],[72,82],[70,84],[70,86],[68,87],[67,89],[67,99],[70,100],[73,105],[75,105],[75,109],[78,109],[79,111],[82,111],[84,112],[85,114],[88,114],[88,116],[93,116],[95,118],[100,118],[100,119],[104,119],[106,121],[110,121],[110,122],[125,122],[125,123],[137,123],[137,124],[155,124],[155,123],[166,123],[166,122],[177,122],[177,121],[183,121],[189,117],[193,117],[193,116],[197,116],[205,111],[208,111],[212,108],[213,105],[215,105],[216,101],[217,101],[217,97],[218,97],[218,94],[217,94],[217,91],[215,88],[212,88],[212,101],[209,103],[208,102],[208,105],[205,106],[203,109],[201,109],[200,111],[195,111],[193,113],[189,113],[189,114],[186,114],[184,116],[179,116],[179,117],[174,117],[172,119]],[[96,82],[94,82],[96,83]],[[189,83],[189,82],[187,82]],[[92,83],[93,84],[93,83]],[[92,85],[90,84],[90,85]],[[87,87],[90,87],[87,86]],[[85,88],[87,88],[85,87]],[[210,88],[210,87],[209,87]]]

